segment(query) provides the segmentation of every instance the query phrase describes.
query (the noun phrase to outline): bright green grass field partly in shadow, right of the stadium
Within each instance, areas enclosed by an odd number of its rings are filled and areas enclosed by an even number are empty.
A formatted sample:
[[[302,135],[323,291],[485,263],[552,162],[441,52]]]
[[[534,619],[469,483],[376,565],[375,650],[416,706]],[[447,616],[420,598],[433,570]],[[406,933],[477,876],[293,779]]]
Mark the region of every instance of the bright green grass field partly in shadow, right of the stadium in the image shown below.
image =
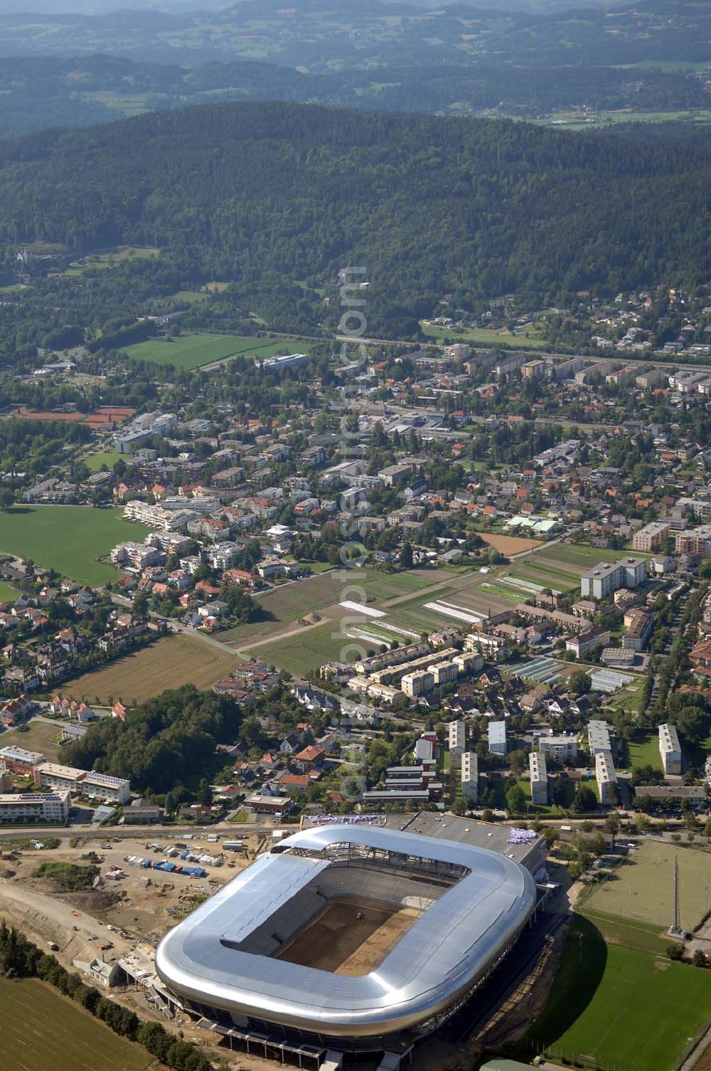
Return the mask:
[[[669,1071],[704,1032],[711,976],[686,964],[607,944],[577,916],[531,1049],[625,1071]]]

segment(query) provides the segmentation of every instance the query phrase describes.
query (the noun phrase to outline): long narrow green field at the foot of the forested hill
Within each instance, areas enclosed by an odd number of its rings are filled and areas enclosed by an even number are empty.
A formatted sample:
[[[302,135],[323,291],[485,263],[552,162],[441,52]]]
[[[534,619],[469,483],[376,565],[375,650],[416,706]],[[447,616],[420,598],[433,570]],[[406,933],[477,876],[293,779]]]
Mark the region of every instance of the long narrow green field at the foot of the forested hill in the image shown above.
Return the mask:
[[[201,368],[213,361],[245,355],[249,357],[273,357],[294,350],[308,353],[313,344],[293,342],[269,342],[245,335],[190,334],[176,338],[149,338],[148,342],[127,346],[123,352],[133,361],[151,361],[155,364],[171,364],[176,368]]]

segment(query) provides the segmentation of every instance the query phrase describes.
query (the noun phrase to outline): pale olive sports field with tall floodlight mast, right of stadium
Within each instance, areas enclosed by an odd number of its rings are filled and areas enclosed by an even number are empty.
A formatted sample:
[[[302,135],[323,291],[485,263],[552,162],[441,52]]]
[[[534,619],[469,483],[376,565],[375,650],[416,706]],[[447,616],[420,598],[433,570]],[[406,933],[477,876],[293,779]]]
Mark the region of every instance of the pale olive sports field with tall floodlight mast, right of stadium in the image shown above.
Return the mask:
[[[711,907],[711,854],[648,841],[599,885],[585,908],[668,926],[674,914],[674,859],[679,864],[681,924],[693,930]]]

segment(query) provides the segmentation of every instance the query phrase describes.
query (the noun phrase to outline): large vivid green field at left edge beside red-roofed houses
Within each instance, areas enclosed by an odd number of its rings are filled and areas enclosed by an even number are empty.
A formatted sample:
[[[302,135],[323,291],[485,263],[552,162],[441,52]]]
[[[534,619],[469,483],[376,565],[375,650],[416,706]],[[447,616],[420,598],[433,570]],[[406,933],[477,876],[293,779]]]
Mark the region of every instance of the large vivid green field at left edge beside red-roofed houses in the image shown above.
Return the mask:
[[[146,528],[124,521],[120,509],[91,506],[15,506],[0,515],[0,550],[101,587],[116,580],[112,565],[97,561],[121,540],[146,538]]]

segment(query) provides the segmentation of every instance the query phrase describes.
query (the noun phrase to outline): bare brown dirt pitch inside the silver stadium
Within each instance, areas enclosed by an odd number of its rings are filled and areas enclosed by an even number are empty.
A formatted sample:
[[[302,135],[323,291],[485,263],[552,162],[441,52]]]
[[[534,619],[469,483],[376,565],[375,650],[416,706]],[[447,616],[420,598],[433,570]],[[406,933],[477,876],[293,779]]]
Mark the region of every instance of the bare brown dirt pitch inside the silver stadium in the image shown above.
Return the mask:
[[[422,912],[360,897],[335,897],[277,959],[351,977],[375,970]]]

